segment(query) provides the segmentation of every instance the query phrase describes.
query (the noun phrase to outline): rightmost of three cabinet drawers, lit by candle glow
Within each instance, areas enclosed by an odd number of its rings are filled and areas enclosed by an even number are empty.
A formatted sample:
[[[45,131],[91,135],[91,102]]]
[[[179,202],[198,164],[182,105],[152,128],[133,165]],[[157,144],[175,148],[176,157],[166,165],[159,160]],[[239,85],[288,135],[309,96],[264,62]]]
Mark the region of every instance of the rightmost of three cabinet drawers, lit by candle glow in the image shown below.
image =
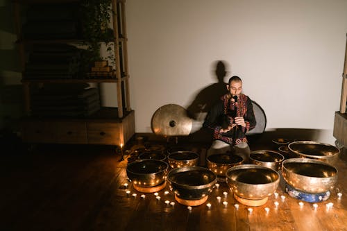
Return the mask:
[[[123,140],[120,123],[88,122],[89,144],[118,145]]]

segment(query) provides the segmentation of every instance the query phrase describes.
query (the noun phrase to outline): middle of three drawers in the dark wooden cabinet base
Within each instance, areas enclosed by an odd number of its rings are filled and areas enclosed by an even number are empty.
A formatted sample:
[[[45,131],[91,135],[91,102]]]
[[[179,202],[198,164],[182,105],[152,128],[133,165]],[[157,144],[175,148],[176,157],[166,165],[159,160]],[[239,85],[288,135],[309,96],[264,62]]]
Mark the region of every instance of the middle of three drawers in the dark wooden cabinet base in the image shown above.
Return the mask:
[[[87,144],[85,122],[57,122],[56,142],[60,144]]]

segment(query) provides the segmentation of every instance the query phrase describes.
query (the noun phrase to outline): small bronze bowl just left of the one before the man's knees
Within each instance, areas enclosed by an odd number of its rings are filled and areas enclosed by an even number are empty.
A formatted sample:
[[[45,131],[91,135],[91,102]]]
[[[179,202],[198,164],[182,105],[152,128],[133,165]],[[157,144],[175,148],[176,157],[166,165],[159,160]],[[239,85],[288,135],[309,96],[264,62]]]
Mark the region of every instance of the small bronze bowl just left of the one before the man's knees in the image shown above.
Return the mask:
[[[172,169],[184,166],[197,166],[198,154],[192,151],[177,151],[167,156],[167,161]]]

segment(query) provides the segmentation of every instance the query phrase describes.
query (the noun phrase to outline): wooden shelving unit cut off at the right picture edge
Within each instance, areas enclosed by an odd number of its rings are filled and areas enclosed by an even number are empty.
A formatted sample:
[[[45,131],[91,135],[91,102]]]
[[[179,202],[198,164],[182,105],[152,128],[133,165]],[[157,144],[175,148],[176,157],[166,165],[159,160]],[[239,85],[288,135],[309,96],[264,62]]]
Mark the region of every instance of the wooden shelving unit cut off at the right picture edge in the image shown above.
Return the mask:
[[[342,74],[341,102],[339,112],[335,112],[334,132],[338,146],[347,147],[347,44],[344,62],[344,73]]]

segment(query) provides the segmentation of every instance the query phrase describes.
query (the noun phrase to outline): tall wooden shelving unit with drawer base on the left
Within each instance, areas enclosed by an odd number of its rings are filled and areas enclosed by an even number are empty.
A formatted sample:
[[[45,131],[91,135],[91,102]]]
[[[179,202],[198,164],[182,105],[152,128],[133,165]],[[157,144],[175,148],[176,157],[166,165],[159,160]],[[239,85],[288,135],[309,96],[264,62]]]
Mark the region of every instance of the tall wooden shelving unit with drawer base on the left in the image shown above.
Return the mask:
[[[22,70],[26,63],[26,46],[31,44],[68,44],[81,40],[25,40],[22,36],[24,5],[33,3],[75,3],[78,0],[17,0],[14,1],[15,30]],[[121,146],[135,134],[135,112],[130,108],[130,89],[126,36],[126,1],[112,0],[112,26],[115,44],[115,76],[110,78],[22,79],[26,117],[22,120],[22,137],[29,143],[110,144]],[[101,108],[83,118],[35,117],[31,115],[31,87],[54,83],[116,83],[117,107]]]

